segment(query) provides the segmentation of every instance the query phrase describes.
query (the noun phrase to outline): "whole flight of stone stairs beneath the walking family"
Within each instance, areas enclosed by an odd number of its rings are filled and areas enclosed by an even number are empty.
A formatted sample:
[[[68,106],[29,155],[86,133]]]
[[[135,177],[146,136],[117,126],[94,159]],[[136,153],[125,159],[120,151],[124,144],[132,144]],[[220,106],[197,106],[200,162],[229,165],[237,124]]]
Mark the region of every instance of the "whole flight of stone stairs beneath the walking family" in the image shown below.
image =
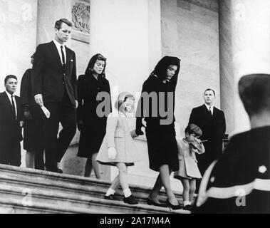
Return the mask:
[[[115,193],[119,200],[104,199],[109,186],[105,180],[0,165],[0,213],[189,214],[147,205],[150,188],[137,185],[130,186],[137,205],[125,204],[120,189]],[[167,198],[164,191],[159,197]],[[182,202],[180,194],[177,199]]]

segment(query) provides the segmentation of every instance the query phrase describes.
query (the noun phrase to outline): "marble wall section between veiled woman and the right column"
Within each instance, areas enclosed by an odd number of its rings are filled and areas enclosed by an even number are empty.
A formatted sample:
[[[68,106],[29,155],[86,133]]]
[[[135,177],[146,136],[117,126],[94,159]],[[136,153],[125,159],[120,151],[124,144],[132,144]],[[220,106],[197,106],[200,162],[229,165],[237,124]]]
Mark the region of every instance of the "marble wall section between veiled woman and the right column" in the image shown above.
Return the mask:
[[[162,56],[181,59],[175,118],[183,135],[192,108],[213,88],[220,106],[219,28],[216,0],[161,0]]]

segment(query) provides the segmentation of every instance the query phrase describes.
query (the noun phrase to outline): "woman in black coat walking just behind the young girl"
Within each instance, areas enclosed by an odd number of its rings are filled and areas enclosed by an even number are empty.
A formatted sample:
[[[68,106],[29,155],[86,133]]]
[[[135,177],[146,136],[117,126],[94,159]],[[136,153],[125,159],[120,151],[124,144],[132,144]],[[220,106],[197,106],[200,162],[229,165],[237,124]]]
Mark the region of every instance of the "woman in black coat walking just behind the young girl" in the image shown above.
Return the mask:
[[[105,78],[105,66],[106,58],[98,53],[90,59],[85,74],[78,78],[77,119],[78,129],[81,130],[78,156],[88,158],[85,177],[90,177],[94,170],[98,179],[100,171],[95,158],[105,136],[106,121],[111,112],[110,84]],[[102,110],[99,109],[101,106]]]

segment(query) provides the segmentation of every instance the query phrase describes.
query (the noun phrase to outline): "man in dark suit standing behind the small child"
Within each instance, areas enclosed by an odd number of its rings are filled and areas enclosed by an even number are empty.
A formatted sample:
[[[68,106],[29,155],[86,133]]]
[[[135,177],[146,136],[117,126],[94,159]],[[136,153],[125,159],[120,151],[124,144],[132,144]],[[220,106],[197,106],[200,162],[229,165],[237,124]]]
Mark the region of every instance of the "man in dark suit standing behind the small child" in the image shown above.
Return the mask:
[[[189,117],[189,124],[193,123],[202,129],[201,140],[204,142],[205,152],[197,156],[199,171],[204,171],[222,155],[222,138],[226,131],[226,122],[222,110],[214,107],[216,94],[211,88],[204,91],[204,105],[193,108]]]

